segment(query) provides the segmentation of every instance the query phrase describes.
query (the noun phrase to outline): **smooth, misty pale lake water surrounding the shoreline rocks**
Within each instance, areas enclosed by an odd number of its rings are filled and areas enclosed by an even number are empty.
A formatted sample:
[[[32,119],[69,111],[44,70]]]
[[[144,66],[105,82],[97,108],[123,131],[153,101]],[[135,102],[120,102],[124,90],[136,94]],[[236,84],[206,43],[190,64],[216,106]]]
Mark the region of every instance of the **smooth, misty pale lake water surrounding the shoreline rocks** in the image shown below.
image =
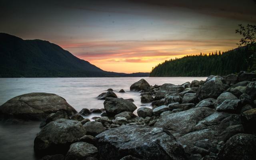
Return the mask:
[[[130,85],[142,77],[116,78],[0,78],[0,105],[9,99],[32,92],[45,92],[60,95],[76,109],[104,108],[103,100],[96,97],[112,88],[118,97],[134,99],[139,108],[140,93],[131,92]],[[206,77],[143,77],[150,85],[172,83],[180,85],[187,81],[205,80]],[[118,93],[124,89],[126,93]],[[151,107],[150,103],[143,104]],[[135,111],[136,114],[136,111]],[[92,118],[98,115],[90,115]],[[6,124],[0,122],[0,159],[1,160],[35,160],[33,145],[36,133],[40,131],[40,122]]]

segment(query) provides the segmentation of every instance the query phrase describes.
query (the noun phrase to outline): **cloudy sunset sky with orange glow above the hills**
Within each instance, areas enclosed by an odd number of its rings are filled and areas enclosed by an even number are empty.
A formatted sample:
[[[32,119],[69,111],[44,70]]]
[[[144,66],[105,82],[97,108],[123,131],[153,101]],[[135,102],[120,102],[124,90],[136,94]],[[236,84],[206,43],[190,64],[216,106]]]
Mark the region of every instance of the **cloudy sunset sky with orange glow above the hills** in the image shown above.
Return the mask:
[[[253,0],[0,0],[0,32],[60,45],[106,71],[150,72],[165,60],[234,49]]]

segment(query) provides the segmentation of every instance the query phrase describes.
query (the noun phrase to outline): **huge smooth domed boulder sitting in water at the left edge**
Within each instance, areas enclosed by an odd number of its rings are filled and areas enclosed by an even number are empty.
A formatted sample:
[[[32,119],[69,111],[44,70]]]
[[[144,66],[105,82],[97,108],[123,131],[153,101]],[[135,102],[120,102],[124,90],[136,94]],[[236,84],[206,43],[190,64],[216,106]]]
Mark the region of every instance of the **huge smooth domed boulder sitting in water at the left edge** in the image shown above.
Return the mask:
[[[0,106],[0,117],[42,120],[51,113],[65,111],[68,116],[76,110],[67,101],[52,93],[28,93],[8,100]]]

